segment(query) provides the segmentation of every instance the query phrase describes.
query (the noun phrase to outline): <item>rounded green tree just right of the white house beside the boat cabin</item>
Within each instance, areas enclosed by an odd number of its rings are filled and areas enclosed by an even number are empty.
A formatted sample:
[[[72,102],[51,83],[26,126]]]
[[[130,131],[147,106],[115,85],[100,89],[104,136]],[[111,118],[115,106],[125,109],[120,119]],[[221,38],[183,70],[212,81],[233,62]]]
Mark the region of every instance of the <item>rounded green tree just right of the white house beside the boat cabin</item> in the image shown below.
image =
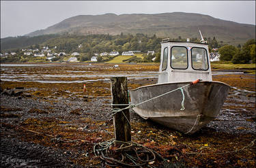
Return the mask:
[[[221,54],[221,61],[231,61],[233,56],[238,52],[238,48],[226,45],[218,49],[218,52]]]

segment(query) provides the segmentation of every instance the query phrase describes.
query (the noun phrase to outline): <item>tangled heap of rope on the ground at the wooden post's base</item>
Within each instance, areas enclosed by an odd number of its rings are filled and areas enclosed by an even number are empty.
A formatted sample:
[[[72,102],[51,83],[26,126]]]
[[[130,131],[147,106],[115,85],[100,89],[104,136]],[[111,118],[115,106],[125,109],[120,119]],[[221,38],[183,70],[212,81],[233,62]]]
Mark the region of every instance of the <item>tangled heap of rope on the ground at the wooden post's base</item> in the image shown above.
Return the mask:
[[[94,144],[95,156],[106,162],[106,165],[117,167],[118,165],[128,167],[141,167],[155,161],[156,156],[162,160],[160,154],[150,150],[134,141],[117,141],[110,139],[108,141]]]

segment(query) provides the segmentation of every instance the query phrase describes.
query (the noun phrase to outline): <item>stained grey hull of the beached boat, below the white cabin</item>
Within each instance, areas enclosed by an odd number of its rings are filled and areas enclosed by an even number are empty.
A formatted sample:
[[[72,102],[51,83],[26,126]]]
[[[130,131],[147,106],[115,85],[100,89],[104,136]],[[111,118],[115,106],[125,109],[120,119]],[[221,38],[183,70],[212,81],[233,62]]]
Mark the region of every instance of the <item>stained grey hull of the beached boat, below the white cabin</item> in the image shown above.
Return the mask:
[[[142,86],[130,90],[131,101],[137,105],[186,84],[189,82]],[[183,88],[184,110],[181,110],[183,96],[180,89],[137,105],[133,110],[144,119],[151,119],[182,133],[195,133],[216,118],[229,93],[229,88],[222,82],[199,82]]]

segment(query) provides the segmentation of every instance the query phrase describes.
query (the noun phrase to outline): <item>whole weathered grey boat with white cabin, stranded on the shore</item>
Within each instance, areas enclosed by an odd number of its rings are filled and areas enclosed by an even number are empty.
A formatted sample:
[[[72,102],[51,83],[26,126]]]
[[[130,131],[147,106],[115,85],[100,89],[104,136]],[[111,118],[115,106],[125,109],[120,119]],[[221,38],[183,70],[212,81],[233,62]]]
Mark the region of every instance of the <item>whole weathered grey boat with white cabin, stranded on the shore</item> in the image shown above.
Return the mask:
[[[212,81],[206,41],[160,44],[158,83],[130,90],[133,110],[146,120],[195,133],[218,116],[230,86]]]

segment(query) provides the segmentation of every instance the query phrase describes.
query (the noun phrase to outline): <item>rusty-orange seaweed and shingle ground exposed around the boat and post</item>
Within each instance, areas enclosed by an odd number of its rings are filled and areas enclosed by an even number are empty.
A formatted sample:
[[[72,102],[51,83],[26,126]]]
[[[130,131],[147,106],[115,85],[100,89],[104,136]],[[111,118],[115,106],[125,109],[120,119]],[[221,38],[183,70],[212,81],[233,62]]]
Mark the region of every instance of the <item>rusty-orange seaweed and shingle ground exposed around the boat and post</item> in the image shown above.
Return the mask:
[[[157,71],[157,65],[1,65],[1,167],[108,167],[93,147],[114,137],[109,78],[125,75],[132,89],[155,84]],[[193,135],[130,110],[132,141],[165,159],[144,167],[255,167],[255,74],[216,73],[213,80],[229,84],[230,93],[221,114]]]

